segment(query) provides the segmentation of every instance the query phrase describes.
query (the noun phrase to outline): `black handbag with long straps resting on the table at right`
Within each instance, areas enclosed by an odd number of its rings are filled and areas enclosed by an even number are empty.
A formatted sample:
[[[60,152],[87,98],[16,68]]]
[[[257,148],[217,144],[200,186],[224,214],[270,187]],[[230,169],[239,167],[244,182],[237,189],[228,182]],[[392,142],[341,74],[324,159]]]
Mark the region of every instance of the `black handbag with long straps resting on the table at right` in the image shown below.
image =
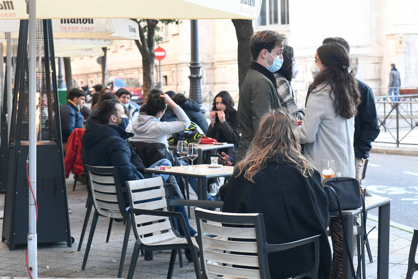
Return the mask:
[[[360,183],[357,179],[352,177],[332,177],[325,179],[322,182],[326,198],[328,200],[329,211],[339,211],[339,217],[341,218],[342,231],[344,243],[347,248],[348,258],[351,265],[351,272],[353,279],[359,279],[360,276],[360,265],[357,266],[357,276],[354,270],[353,258],[350,253],[350,249],[347,241],[347,233],[344,229],[344,218],[342,216],[342,210],[353,210],[359,207],[363,209],[363,224],[366,227],[365,212],[366,207],[364,205],[364,197],[360,188]],[[341,200],[339,199],[341,197]],[[364,229],[363,239],[367,238],[366,230]],[[362,243],[361,255],[364,253],[364,242]]]

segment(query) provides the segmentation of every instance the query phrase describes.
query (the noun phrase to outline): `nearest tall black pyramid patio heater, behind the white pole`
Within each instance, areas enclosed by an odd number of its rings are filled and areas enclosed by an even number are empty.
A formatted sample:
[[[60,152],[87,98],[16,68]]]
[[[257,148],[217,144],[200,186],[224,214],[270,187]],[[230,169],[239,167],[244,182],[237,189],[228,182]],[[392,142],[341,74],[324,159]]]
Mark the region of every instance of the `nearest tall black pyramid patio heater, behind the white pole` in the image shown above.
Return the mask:
[[[71,246],[51,20],[36,20],[36,33],[38,243]],[[10,250],[28,243],[28,63],[28,20],[20,20],[2,237]]]

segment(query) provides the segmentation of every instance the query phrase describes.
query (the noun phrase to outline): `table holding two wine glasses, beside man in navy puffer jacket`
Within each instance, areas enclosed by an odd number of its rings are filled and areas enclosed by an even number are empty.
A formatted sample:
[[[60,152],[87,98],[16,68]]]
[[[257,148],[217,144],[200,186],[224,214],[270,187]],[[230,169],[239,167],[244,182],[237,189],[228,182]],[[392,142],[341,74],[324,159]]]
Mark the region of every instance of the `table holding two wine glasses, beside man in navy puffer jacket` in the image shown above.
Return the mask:
[[[204,144],[204,145],[211,145],[211,144]],[[233,145],[232,145],[233,146]],[[153,174],[172,174],[172,175],[180,175],[183,177],[196,177],[198,181],[198,192],[197,199],[198,200],[206,200],[206,187],[209,178],[217,178],[217,177],[230,177],[234,172],[233,166],[222,166],[220,168],[209,168],[207,164],[200,164],[193,166],[194,171],[189,171],[189,166],[172,166],[170,169],[166,170],[156,170],[153,168],[145,169],[145,172],[153,173]],[[205,190],[205,191],[203,191]]]

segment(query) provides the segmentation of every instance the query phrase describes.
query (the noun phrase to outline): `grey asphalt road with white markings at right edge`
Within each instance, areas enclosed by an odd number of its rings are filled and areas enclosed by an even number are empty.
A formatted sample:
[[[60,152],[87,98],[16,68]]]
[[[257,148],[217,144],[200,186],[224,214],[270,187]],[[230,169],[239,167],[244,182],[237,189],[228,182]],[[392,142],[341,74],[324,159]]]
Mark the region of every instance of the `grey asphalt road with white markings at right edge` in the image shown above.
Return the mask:
[[[418,228],[418,156],[370,153],[365,179],[372,195],[391,199],[391,221]]]

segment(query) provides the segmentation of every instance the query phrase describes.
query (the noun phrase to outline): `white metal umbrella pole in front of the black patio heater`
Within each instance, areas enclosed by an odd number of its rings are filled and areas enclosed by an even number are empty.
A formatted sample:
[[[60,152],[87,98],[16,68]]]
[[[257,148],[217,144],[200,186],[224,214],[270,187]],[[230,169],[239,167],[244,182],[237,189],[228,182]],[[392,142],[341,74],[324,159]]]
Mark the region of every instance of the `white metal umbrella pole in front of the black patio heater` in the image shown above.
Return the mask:
[[[29,180],[36,197],[36,0],[29,0]],[[28,266],[38,278],[35,200],[29,192]]]

